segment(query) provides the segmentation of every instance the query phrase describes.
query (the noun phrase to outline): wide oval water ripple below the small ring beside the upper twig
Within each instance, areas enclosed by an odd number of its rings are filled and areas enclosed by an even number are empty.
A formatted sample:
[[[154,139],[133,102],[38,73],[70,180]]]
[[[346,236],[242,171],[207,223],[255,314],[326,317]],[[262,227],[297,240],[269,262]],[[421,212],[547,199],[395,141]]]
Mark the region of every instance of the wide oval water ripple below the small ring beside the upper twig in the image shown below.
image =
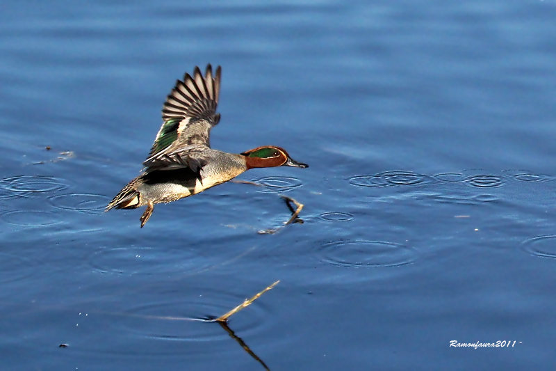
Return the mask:
[[[318,247],[320,260],[338,267],[397,267],[418,258],[415,248],[384,241],[348,240]]]

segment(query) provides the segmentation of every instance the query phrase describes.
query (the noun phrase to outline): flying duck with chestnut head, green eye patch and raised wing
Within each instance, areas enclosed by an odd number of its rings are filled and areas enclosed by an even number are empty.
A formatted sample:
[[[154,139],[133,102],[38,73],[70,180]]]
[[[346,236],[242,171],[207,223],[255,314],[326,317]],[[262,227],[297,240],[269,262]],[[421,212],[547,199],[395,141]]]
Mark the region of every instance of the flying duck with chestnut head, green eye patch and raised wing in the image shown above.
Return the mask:
[[[177,81],[163,107],[164,123],[156,136],[145,172],[131,180],[108,204],[106,211],[147,206],[141,228],[155,203],[169,203],[198,194],[227,182],[250,168],[272,166],[307,167],[293,161],[279,147],[255,148],[241,154],[213,150],[208,144],[210,129],[220,121],[215,113],[220,93],[220,67],[205,77],[195,68]]]

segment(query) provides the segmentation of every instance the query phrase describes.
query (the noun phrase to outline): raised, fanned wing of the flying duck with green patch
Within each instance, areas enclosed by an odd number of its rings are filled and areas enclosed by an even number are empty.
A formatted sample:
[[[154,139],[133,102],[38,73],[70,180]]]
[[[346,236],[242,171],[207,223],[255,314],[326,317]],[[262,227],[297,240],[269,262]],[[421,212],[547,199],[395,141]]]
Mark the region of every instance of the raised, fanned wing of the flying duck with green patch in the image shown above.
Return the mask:
[[[193,77],[186,73],[183,81],[176,81],[162,109],[162,127],[143,162],[147,173],[184,167],[198,173],[206,164],[206,150],[211,146],[208,136],[220,121],[216,106],[221,71],[218,66],[213,75],[212,66],[207,65],[203,77],[195,67]]]

